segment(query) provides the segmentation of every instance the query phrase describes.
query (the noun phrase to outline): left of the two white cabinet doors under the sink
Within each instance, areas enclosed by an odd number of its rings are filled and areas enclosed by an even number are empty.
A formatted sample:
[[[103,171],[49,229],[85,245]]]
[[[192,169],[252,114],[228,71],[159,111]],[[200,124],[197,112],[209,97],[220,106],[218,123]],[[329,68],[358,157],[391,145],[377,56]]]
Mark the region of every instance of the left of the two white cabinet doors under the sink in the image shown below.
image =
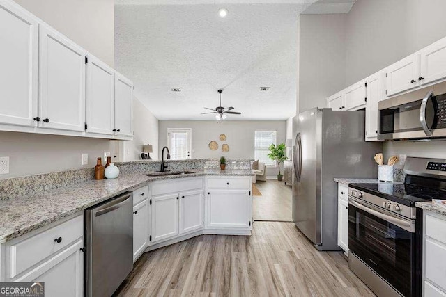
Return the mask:
[[[152,243],[178,235],[178,193],[152,198]]]

